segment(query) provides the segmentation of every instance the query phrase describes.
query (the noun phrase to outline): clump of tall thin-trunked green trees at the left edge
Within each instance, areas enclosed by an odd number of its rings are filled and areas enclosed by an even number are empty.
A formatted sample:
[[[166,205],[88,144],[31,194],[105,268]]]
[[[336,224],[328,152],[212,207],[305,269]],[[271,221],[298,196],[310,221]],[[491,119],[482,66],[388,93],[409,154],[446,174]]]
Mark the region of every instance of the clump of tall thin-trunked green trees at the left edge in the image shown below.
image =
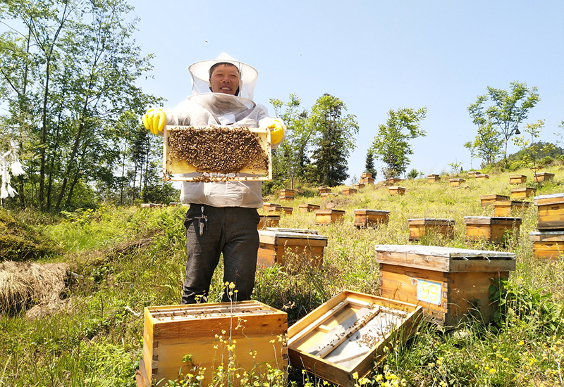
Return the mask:
[[[132,10],[123,0],[12,0],[2,10],[4,23],[26,30],[1,35],[8,66],[0,89],[8,92],[0,103],[10,109],[0,130],[17,129],[12,137],[27,154],[26,192],[43,210],[71,205],[77,186],[114,179],[123,137],[114,124],[123,112],[139,117],[158,101],[135,87],[151,67],[135,45]]]

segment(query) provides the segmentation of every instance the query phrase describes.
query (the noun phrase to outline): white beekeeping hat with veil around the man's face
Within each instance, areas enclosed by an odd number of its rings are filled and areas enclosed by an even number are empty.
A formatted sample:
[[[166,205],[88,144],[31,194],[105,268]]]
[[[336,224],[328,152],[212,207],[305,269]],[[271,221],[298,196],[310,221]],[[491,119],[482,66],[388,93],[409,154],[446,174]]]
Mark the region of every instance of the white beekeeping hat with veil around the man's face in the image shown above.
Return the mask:
[[[228,56],[226,53],[221,53],[217,58],[209,61],[196,62],[188,67],[188,71],[192,75],[192,95],[209,93],[209,69],[216,63],[222,62],[231,63],[239,69],[238,96],[252,100],[259,72],[250,65]]]

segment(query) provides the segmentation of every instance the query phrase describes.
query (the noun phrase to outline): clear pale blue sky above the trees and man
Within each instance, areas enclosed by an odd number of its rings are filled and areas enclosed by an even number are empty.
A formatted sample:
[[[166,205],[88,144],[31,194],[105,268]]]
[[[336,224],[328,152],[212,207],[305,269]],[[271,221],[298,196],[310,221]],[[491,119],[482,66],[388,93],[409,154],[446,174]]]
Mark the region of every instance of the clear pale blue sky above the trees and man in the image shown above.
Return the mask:
[[[297,94],[341,99],[356,115],[357,148],[348,160],[360,177],[367,148],[390,109],[427,106],[407,170],[470,169],[477,127],[467,106],[486,87],[539,88],[526,122],[546,120],[555,141],[564,120],[564,1],[180,1],[135,0],[137,44],[154,53],[153,79],[140,86],[176,106],[190,94],[188,65],[221,52],[255,67],[255,101]],[[517,151],[510,141],[509,153]],[[479,167],[480,160],[473,161]],[[376,163],[376,167],[381,167]],[[379,172],[381,177],[381,172]],[[348,180],[351,182],[351,179]]]

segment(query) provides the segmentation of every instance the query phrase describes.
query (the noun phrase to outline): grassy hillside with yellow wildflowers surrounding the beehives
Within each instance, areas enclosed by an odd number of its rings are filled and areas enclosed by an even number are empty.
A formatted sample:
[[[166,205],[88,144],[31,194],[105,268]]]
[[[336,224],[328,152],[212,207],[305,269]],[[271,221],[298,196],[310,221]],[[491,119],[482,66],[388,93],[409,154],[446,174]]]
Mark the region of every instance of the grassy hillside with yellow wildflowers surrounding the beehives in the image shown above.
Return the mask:
[[[546,172],[555,173],[556,182],[537,184],[537,196],[563,192],[560,169],[547,168]],[[457,188],[450,187],[445,176],[439,183],[408,180],[399,184],[406,189],[404,196],[389,196],[385,186],[366,186],[353,196],[332,199],[298,195],[295,201],[283,203],[294,211],[291,216],[282,215],[279,227],[317,229],[328,236],[323,266],[315,269],[295,258],[284,268],[259,269],[254,298],[288,312],[292,324],[343,289],[377,294],[379,267],[374,245],[410,243],[407,219],[451,218],[455,220],[453,240],[429,235],[419,243],[516,253],[517,269],[510,275],[508,292],[503,293],[503,315],[489,326],[469,322],[456,334],[422,324],[410,341],[397,343],[386,361],[375,367],[370,383],[560,385],[564,260],[539,262],[532,257],[529,231],[536,229],[536,208],[515,214],[522,217],[522,225],[508,246],[465,239],[463,217],[493,215],[493,208],[482,208],[479,196],[509,195],[509,175],[514,174],[531,179],[529,171],[517,170],[491,174],[483,182],[461,176],[466,183]],[[336,187],[333,192],[341,189]],[[264,201],[278,203],[278,198]],[[345,210],[344,220],[316,226],[313,212],[298,212],[300,203]],[[389,222],[357,229],[353,226],[357,208],[389,210]],[[30,218],[29,213],[12,215],[16,220]],[[33,227],[63,251],[50,255],[49,260],[71,262],[80,277],[69,284],[66,307],[56,315],[32,321],[23,314],[0,317],[0,386],[135,386],[133,374],[142,355],[143,330],[142,317],[135,313],[149,305],[180,302],[184,215],[182,207],[104,207],[66,214],[61,220],[39,218]],[[147,239],[150,243],[135,244]],[[214,276],[211,301],[221,298],[221,269]],[[290,369],[288,385],[324,383]]]

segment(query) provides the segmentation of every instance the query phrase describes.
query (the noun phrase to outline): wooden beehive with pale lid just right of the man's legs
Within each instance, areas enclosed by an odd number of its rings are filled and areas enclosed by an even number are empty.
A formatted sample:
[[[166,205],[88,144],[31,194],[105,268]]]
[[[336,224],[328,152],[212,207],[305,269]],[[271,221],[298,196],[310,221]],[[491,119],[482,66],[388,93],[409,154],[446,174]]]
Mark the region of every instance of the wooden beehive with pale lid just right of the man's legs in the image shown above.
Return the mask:
[[[323,262],[325,246],[327,246],[327,237],[323,235],[272,229],[259,230],[257,265],[260,267],[286,265],[286,256],[292,254],[307,260],[312,267],[319,267]]]

